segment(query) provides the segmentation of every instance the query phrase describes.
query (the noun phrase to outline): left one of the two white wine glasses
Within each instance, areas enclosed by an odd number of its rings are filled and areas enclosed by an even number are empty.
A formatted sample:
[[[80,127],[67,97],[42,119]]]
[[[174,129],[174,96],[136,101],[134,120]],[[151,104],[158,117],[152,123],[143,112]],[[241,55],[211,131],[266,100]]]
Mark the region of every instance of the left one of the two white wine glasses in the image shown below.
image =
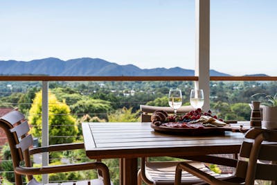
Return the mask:
[[[168,104],[174,109],[174,115],[177,115],[177,109],[182,105],[182,95],[180,89],[170,89],[168,94]]]

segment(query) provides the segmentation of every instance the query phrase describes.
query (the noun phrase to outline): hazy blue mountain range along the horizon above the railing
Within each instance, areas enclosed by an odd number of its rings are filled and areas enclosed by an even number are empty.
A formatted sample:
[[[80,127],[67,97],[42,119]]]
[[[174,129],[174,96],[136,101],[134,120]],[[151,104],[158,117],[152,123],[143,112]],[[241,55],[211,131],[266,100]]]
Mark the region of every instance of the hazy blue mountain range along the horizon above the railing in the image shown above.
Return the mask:
[[[211,76],[230,76],[215,70]],[[46,75],[46,76],[194,76],[195,71],[180,67],[141,69],[132,64],[119,65],[100,58],[77,58],[60,60],[44,58],[30,62],[0,60],[0,75]]]

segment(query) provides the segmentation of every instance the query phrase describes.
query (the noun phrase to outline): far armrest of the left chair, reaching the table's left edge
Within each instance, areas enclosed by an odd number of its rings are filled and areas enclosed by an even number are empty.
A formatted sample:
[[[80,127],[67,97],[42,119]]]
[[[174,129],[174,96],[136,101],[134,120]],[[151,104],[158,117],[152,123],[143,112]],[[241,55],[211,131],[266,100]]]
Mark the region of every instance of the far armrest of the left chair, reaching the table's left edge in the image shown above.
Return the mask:
[[[30,149],[30,155],[34,155],[42,152],[55,152],[55,151],[78,150],[78,149],[84,149],[84,143],[68,143],[68,144],[52,145],[48,147],[32,148]]]

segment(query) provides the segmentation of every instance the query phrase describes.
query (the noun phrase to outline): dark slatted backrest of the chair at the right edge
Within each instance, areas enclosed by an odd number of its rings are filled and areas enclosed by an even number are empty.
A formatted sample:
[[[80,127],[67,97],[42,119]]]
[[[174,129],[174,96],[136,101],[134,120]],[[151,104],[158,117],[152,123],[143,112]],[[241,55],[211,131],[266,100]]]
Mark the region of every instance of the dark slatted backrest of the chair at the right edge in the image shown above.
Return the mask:
[[[255,179],[277,180],[277,130],[253,128],[245,134],[240,148],[240,157],[249,161],[238,161],[235,175],[245,178],[246,184],[254,184]],[[260,163],[258,160],[269,161]]]

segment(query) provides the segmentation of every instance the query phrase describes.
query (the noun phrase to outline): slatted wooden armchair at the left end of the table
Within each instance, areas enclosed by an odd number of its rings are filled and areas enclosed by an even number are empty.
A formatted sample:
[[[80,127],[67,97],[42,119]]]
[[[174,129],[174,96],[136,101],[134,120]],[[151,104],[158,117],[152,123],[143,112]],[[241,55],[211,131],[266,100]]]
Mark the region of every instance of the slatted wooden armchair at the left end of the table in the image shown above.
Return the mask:
[[[61,150],[73,150],[84,148],[83,143],[73,143],[73,144],[62,144],[42,148],[33,148],[33,138],[28,131],[30,130],[28,122],[24,118],[24,115],[13,110],[8,114],[0,118],[0,127],[6,132],[8,138],[8,143],[10,146],[10,152],[12,156],[12,165],[15,173],[15,184],[22,185],[25,184],[22,180],[22,175],[26,175],[28,179],[27,185],[43,185],[37,182],[33,175],[41,175],[48,173],[62,173],[77,170],[90,170],[98,169],[100,170],[102,177],[98,179],[80,181],[80,182],[66,182],[62,184],[66,185],[111,185],[109,178],[109,169],[107,166],[101,162],[86,162],[80,164],[66,164],[59,166],[43,166],[40,168],[33,168],[30,162],[30,155],[39,152],[53,152]],[[52,184],[52,183],[51,183]],[[57,183],[53,183],[53,185]]]

